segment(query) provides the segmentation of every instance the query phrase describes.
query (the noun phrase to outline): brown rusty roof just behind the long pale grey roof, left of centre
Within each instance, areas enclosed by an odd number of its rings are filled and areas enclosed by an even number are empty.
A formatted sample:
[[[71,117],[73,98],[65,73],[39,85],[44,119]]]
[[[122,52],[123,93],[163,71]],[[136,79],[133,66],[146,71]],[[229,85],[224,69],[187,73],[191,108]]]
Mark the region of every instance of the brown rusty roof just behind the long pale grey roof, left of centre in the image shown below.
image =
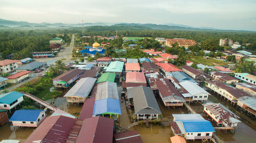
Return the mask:
[[[62,80],[62,81],[70,81],[72,78],[74,78],[75,76],[79,75],[80,73],[82,73],[83,70],[80,69],[73,69],[73,70],[69,70],[55,78],[53,78],[52,80]]]

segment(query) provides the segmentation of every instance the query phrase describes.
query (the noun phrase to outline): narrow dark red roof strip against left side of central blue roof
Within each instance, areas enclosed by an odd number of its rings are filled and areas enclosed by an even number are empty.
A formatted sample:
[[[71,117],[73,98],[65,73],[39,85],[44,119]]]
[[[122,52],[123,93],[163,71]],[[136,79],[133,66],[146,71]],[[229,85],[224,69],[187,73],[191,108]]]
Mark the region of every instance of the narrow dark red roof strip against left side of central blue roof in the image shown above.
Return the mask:
[[[84,101],[82,110],[78,118],[79,120],[93,117],[94,101],[95,97],[87,98],[86,101]]]

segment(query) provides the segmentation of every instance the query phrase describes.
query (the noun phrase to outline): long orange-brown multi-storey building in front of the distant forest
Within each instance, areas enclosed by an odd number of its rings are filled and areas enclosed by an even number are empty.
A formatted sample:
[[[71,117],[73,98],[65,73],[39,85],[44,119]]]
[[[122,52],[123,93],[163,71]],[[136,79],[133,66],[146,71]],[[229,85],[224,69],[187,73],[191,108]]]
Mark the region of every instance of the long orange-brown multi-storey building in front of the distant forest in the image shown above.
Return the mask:
[[[166,45],[169,47],[172,47],[172,44],[178,43],[180,47],[188,48],[189,46],[196,45],[196,41],[194,40],[188,40],[188,39],[166,39]]]

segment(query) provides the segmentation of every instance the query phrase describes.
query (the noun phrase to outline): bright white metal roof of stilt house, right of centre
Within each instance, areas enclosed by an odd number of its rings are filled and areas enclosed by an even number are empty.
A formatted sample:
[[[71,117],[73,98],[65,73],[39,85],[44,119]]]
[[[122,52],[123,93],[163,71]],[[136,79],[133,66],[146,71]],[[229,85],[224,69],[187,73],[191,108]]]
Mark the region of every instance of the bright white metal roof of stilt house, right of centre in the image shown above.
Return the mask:
[[[191,95],[197,95],[200,93],[204,93],[204,94],[208,94],[210,95],[208,92],[206,92],[204,89],[202,89],[201,87],[199,87],[199,85],[197,85],[194,82],[190,82],[190,81],[183,81],[180,82],[180,85],[187,91],[189,92]]]

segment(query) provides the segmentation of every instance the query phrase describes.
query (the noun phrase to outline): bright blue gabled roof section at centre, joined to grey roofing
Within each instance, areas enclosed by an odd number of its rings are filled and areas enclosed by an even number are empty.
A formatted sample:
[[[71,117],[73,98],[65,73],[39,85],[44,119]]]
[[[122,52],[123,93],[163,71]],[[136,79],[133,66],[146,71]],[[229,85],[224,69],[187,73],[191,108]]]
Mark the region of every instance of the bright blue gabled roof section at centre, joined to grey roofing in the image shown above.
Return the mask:
[[[118,99],[104,98],[95,100],[93,108],[93,116],[102,114],[121,114],[120,102]]]

